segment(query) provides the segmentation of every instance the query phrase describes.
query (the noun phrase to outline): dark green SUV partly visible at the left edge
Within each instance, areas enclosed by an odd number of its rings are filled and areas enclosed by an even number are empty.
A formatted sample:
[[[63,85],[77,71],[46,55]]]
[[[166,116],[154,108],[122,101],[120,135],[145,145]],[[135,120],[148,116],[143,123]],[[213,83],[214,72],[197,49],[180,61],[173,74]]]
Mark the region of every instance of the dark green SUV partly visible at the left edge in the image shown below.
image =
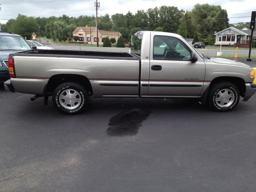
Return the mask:
[[[30,45],[22,36],[0,31],[0,83],[10,79],[8,72],[9,54],[29,49],[31,49]]]

